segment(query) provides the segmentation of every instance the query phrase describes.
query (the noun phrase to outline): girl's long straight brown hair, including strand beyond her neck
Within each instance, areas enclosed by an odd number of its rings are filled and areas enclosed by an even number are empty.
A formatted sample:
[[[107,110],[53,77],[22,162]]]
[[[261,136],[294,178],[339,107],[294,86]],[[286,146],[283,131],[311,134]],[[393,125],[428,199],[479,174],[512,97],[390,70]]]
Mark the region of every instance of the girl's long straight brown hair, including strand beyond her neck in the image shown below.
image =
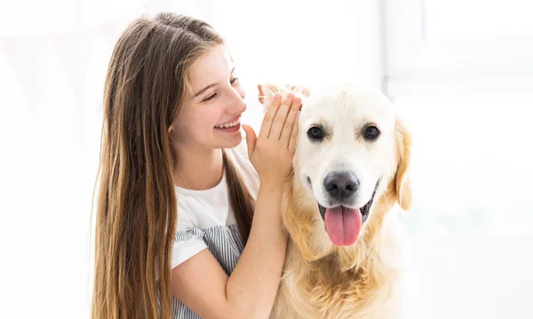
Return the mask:
[[[162,12],[134,20],[115,45],[104,90],[93,319],[171,317],[178,156],[168,128],[187,92],[190,66],[222,43],[206,22]],[[223,154],[245,243],[253,203]]]

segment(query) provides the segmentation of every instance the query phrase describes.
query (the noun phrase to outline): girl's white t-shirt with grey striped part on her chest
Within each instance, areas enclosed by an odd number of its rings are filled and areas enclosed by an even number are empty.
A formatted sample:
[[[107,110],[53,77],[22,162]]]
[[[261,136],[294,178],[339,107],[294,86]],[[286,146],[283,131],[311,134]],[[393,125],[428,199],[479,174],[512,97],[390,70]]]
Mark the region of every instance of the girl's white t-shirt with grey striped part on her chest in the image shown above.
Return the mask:
[[[227,149],[227,159],[255,200],[259,191],[259,175],[248,159],[246,140]],[[175,186],[178,199],[178,228],[172,248],[171,267],[208,248],[220,265],[231,273],[243,252],[243,241],[229,200],[226,172],[218,185],[210,190],[193,191]]]

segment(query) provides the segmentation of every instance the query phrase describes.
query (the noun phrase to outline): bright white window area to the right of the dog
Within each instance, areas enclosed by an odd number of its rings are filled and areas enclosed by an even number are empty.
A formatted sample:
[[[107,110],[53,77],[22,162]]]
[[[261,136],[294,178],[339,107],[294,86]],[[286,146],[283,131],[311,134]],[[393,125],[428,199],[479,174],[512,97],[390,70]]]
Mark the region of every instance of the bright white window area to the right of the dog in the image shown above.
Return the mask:
[[[415,138],[405,318],[533,317],[532,11],[385,1],[385,89]]]

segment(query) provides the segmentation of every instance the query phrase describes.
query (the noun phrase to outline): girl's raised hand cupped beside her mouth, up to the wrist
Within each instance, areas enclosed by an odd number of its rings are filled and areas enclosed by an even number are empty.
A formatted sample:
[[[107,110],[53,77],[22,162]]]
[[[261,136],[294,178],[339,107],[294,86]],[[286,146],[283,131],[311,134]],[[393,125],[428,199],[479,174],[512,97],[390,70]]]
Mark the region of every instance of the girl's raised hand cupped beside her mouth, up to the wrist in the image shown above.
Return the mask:
[[[302,101],[294,94],[282,101],[278,93],[265,113],[256,136],[253,128],[243,125],[248,156],[259,174],[261,185],[279,187],[292,170],[292,158],[298,138],[298,113]]]

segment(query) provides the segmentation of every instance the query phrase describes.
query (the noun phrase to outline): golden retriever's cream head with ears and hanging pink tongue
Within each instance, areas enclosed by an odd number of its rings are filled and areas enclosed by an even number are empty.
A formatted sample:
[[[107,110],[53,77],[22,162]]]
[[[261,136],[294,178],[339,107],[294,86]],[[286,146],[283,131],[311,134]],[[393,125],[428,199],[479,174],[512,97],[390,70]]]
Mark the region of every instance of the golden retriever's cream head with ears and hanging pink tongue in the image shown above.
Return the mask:
[[[372,216],[378,198],[410,207],[410,135],[378,92],[341,84],[302,96],[295,182],[314,198],[331,243],[354,245],[366,223],[383,218]]]

